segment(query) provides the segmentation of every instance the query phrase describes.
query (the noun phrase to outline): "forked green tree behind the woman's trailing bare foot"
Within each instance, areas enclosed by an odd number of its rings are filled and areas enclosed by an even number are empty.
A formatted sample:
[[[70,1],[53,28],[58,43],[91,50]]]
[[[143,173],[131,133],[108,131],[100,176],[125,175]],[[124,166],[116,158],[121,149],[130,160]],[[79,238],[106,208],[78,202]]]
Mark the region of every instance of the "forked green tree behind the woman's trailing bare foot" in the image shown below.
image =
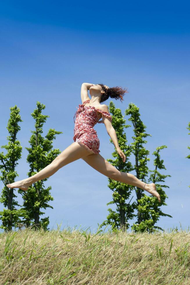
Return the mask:
[[[125,111],[126,115],[130,115],[129,121],[133,124],[133,131],[135,136],[133,136],[133,142],[132,145],[132,153],[135,156],[135,171],[136,171],[136,177],[144,181],[145,177],[149,175],[149,172],[151,172],[148,169],[147,161],[150,161],[150,158],[147,158],[149,151],[143,146],[143,144],[147,143],[147,140],[144,140],[143,138],[146,138],[148,136],[151,136],[150,134],[147,134],[145,132],[146,126],[143,124],[143,122],[140,119],[140,113],[139,108],[133,104],[130,103],[128,109]],[[159,220],[159,216],[169,216],[172,218],[171,215],[163,213],[159,207],[162,205],[166,205],[165,199],[166,194],[164,190],[162,190],[162,187],[168,187],[166,185],[160,185],[156,182],[164,181],[163,179],[166,177],[171,177],[170,175],[163,175],[160,174],[157,171],[157,168],[159,169],[166,169],[163,165],[163,160],[160,161],[159,151],[160,149],[165,148],[166,146],[157,147],[157,152],[154,152],[153,155],[156,156],[154,160],[155,170],[152,171],[153,174],[150,175],[148,182],[152,182],[156,184],[157,192],[159,193],[161,197],[161,203],[158,202],[157,198],[153,195],[147,196],[145,194],[145,190],[136,187],[136,195],[137,195],[137,222],[135,222],[131,229],[134,229],[135,231],[152,231],[155,228],[159,228],[158,226],[155,226],[155,223]],[[169,187],[168,187],[169,188]]]

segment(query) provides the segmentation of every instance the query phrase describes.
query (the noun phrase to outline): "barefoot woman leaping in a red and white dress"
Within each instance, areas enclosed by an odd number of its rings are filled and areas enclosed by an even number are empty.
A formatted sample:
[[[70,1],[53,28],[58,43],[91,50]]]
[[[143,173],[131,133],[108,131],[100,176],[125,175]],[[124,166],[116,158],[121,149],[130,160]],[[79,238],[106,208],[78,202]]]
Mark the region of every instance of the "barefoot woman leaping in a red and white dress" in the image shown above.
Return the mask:
[[[88,90],[91,99],[88,96]],[[151,195],[157,197],[160,202],[160,195],[156,191],[154,183],[146,184],[133,174],[120,172],[99,154],[100,142],[93,127],[96,123],[104,123],[107,133],[111,137],[119,156],[123,162],[126,161],[126,156],[118,145],[116,132],[112,127],[112,116],[108,111],[108,107],[105,104],[100,104],[109,97],[123,100],[123,94],[126,92],[128,91],[120,87],[109,88],[103,84],[83,83],[81,86],[81,99],[83,104],[79,104],[79,108],[74,115],[74,118],[76,116],[76,120],[74,121],[74,143],[64,149],[49,165],[35,175],[7,184],[7,187],[20,188],[26,191],[31,184],[50,177],[64,165],[82,158],[90,166],[110,179],[146,190]],[[99,121],[101,118],[102,120]]]

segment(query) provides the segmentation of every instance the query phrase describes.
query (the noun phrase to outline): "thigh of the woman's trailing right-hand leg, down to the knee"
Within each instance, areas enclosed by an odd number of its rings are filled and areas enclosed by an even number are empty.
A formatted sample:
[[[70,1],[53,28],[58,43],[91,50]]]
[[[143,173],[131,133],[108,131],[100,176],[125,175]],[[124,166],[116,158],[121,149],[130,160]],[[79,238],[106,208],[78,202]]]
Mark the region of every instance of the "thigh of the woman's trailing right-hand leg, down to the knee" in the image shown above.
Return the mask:
[[[120,171],[117,170],[117,168],[110,162],[105,160],[105,158],[103,158],[103,156],[100,154],[91,154],[89,156],[83,157],[83,160],[92,166],[92,168],[96,169],[98,172],[111,179],[116,179],[119,177]]]

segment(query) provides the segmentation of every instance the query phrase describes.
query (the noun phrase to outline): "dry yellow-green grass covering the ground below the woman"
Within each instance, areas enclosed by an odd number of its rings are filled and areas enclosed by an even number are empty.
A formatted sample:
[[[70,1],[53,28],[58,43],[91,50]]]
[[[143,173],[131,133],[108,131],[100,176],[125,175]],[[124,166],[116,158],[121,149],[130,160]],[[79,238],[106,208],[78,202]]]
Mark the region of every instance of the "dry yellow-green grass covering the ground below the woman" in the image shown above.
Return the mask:
[[[0,234],[0,284],[190,284],[190,234]]]

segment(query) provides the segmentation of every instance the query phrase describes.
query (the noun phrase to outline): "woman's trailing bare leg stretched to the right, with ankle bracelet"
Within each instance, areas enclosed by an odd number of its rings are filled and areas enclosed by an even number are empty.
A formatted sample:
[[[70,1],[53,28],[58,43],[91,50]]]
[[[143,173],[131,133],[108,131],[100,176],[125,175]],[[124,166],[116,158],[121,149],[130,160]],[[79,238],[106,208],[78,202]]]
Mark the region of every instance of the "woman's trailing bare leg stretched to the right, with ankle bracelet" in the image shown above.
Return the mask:
[[[160,195],[156,191],[156,185],[154,183],[145,184],[145,182],[139,180],[133,174],[120,172],[111,163],[106,161],[100,154],[92,154],[83,157],[83,160],[92,166],[92,168],[113,180],[137,186],[141,189],[144,188],[144,190],[146,190],[148,193],[157,197],[158,201],[160,202]]]

